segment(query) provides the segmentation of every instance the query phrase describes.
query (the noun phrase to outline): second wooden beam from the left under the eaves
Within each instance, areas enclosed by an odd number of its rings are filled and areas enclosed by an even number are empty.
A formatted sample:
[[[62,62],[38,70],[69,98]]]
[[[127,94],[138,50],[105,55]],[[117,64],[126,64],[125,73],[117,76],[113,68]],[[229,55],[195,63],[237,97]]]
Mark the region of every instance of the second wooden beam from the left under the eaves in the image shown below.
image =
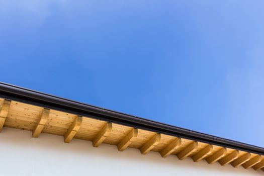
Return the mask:
[[[37,125],[35,126],[34,130],[32,131],[32,137],[38,137],[46,125],[49,118],[49,109],[44,108],[42,110],[42,113],[40,115],[39,121]]]

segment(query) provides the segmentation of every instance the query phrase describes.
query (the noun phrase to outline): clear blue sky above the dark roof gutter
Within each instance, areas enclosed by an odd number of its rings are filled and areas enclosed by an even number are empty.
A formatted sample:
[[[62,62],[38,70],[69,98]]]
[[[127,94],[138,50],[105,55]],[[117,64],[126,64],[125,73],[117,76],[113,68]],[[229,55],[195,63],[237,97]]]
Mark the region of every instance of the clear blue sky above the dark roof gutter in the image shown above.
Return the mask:
[[[0,80],[264,147],[263,7],[0,0]]]

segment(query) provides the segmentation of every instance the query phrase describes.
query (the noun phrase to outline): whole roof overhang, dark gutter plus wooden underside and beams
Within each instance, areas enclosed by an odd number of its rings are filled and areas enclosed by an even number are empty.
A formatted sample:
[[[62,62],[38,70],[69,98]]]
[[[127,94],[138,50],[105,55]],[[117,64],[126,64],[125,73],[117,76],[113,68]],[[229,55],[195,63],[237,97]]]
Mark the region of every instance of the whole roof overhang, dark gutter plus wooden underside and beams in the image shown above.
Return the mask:
[[[0,131],[3,127],[127,147],[142,154],[159,152],[179,159],[205,159],[209,164],[264,168],[264,148],[219,138],[0,82]]]

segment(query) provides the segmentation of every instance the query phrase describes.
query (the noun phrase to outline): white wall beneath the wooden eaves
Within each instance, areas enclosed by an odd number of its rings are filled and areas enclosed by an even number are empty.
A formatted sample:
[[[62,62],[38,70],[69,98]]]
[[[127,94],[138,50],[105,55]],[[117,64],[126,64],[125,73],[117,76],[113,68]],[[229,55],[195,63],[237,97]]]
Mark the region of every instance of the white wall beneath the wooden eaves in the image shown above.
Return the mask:
[[[162,158],[157,152],[140,154],[127,148],[102,144],[98,148],[90,141],[42,133],[31,138],[31,132],[4,128],[0,133],[0,175],[263,175],[264,172],[218,162],[183,161],[170,155]]]

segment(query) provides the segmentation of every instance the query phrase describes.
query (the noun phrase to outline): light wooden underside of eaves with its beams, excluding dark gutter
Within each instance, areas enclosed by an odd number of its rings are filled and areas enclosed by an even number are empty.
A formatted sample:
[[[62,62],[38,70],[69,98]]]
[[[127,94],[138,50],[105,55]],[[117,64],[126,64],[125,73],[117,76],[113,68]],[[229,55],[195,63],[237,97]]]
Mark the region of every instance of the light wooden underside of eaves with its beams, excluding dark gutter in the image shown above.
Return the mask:
[[[232,154],[235,150],[227,148],[226,154],[219,154],[220,156],[216,157],[219,150],[223,148],[222,146],[212,145],[213,149],[211,150],[208,143],[197,142],[195,145],[196,142],[190,139],[180,139],[144,129],[134,129],[134,132],[132,132],[133,128],[130,126],[115,123],[110,125],[106,121],[91,117],[83,117],[79,126],[74,122],[77,117],[76,114],[51,109],[49,115],[44,118],[42,116],[45,116],[46,110],[43,110],[43,107],[12,101],[9,110],[7,110],[8,108],[5,108],[7,106],[3,106],[4,102],[5,99],[0,98],[0,110],[2,110],[0,115],[6,117],[5,124],[2,123],[4,127],[33,131],[33,137],[35,133],[38,135],[48,133],[63,136],[65,142],[76,138],[92,141],[94,146],[99,146],[101,143],[116,145],[120,151],[130,147],[141,149],[142,153],[148,151],[159,152],[162,157],[169,154],[178,155],[181,159],[191,157],[196,162],[201,159],[210,160],[215,157],[212,159],[213,162],[218,160],[223,165],[231,163],[234,167],[237,167],[241,164],[248,164],[247,167],[251,166],[257,170],[264,169],[262,160],[258,163],[251,160],[256,156],[254,153],[239,151],[236,158],[235,154]],[[157,135],[156,138],[153,138],[155,135]],[[191,144],[193,147],[190,146]],[[261,157],[264,158],[263,155]]]

